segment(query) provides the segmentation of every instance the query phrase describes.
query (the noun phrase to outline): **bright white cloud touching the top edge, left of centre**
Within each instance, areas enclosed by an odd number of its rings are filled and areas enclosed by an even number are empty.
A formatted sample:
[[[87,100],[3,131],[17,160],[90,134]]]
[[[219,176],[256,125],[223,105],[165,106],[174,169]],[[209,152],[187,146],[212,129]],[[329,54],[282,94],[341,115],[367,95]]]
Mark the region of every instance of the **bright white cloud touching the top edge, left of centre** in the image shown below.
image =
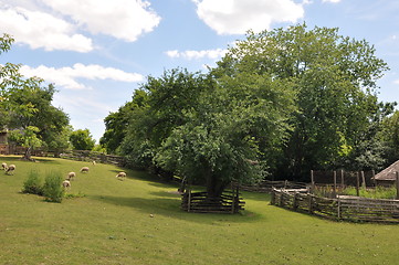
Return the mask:
[[[143,0],[41,0],[54,11],[71,17],[93,34],[134,42],[159,24],[160,17]]]

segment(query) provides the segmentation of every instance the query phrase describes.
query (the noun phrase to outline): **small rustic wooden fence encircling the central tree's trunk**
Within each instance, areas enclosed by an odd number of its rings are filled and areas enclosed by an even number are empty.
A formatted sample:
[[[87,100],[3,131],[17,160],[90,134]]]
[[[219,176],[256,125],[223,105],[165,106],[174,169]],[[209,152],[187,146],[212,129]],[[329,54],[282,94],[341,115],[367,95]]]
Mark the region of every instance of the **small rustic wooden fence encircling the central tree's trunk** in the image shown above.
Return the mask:
[[[198,213],[238,213],[244,210],[245,202],[237,190],[224,191],[220,198],[209,198],[207,192],[191,192],[182,194],[181,209]]]

